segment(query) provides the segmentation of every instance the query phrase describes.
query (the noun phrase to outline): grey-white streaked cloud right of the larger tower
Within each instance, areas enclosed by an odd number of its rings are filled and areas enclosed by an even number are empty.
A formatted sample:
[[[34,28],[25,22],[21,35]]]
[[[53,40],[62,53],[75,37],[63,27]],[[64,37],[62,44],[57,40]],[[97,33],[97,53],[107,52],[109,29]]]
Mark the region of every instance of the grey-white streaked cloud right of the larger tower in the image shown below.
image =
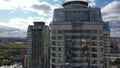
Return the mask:
[[[102,8],[103,20],[108,21],[111,28],[111,36],[120,35],[120,1],[113,1]],[[120,36],[119,36],[120,37]]]

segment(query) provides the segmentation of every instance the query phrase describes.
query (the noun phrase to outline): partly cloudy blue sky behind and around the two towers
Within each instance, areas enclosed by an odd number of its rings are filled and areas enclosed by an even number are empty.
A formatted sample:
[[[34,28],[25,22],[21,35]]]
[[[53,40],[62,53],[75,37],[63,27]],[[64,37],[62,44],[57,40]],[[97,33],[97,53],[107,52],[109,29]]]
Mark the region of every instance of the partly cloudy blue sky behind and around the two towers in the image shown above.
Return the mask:
[[[68,0],[66,0],[68,1]],[[86,0],[84,0],[86,1]],[[120,37],[120,0],[90,0],[90,5],[101,8],[103,20],[111,27],[111,36]],[[53,10],[63,0],[0,0],[0,37],[26,37],[33,21],[52,21]]]

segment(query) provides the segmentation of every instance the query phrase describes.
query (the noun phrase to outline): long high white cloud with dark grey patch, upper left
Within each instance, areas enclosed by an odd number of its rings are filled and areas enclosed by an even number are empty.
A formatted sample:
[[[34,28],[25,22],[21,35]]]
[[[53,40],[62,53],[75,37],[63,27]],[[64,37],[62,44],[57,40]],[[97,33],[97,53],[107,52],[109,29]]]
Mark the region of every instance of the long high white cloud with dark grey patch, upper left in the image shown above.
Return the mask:
[[[0,10],[17,10],[37,12],[39,15],[49,15],[53,13],[54,5],[38,0],[0,0]]]

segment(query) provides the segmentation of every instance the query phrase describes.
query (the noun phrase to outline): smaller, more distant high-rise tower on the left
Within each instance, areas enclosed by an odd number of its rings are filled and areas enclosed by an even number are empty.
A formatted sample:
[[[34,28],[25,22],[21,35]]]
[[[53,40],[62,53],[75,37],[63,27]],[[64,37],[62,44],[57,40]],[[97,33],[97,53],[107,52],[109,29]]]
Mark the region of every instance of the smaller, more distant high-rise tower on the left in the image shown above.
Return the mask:
[[[44,22],[34,22],[27,32],[27,68],[48,68],[49,28]]]

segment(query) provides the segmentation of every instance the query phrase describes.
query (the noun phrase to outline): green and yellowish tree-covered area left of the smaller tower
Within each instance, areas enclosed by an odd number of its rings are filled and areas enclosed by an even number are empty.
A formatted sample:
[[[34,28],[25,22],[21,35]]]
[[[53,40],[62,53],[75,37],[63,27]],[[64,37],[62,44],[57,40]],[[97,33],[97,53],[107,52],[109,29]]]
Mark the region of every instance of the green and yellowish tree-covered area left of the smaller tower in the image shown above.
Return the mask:
[[[16,61],[14,58],[18,58],[17,55],[21,56],[22,49],[25,48],[26,45],[23,43],[8,43],[0,45],[0,66],[15,63]]]

